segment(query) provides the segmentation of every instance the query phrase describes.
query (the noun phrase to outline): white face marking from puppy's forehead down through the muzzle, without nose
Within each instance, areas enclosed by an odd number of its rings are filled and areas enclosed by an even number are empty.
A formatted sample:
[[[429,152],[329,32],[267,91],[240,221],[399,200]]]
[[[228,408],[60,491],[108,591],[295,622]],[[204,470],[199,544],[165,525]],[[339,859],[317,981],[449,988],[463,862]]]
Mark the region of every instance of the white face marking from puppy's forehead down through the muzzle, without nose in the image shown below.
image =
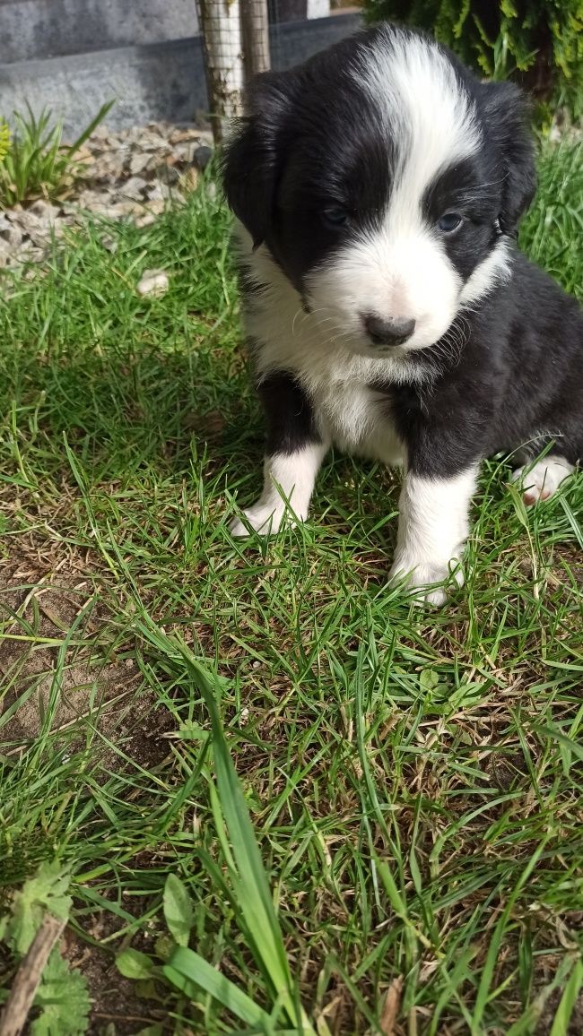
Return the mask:
[[[305,279],[308,296],[314,310],[338,315],[361,337],[368,313],[413,319],[407,350],[425,348],[450,327],[463,281],[424,218],[423,197],[440,173],[479,148],[479,123],[449,59],[414,33],[386,28],[351,75],[381,116],[391,149],[389,193],[376,225],[351,234]],[[469,298],[481,290],[481,282],[472,286]]]

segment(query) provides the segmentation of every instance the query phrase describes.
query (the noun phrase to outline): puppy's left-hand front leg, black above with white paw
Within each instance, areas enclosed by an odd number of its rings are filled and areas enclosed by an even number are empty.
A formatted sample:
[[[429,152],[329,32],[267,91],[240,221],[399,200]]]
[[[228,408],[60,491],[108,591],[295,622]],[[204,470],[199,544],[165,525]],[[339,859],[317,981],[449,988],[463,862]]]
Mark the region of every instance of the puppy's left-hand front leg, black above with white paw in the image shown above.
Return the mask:
[[[268,421],[263,490],[256,503],[229,525],[232,536],[249,536],[249,525],[261,535],[277,533],[287,503],[305,521],[315,477],[329,441],[317,428],[301,385],[288,374],[267,377],[258,387]]]

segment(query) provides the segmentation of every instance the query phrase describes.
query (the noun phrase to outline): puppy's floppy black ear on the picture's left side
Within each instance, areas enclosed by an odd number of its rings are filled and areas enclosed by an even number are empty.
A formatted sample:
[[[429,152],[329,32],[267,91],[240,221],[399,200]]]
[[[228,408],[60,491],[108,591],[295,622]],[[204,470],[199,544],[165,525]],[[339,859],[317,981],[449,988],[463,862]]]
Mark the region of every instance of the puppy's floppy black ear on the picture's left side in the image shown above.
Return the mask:
[[[246,92],[246,114],[223,154],[225,195],[254,248],[269,236],[272,225],[289,86],[289,74],[255,77]]]

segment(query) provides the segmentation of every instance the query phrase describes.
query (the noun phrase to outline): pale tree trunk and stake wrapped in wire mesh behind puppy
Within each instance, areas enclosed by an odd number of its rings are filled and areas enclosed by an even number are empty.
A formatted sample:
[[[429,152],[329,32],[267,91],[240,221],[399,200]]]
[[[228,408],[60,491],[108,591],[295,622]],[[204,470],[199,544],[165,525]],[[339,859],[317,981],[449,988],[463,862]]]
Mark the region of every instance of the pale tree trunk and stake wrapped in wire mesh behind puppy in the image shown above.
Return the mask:
[[[245,82],[270,67],[268,0],[196,0],[215,140],[242,112]]]

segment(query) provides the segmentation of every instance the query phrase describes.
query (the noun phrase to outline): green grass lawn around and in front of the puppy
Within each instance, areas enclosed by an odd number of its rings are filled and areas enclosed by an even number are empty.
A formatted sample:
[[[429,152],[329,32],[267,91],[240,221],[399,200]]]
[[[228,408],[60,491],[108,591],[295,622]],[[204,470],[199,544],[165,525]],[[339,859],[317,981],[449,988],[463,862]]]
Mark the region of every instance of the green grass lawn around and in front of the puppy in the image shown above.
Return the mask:
[[[579,291],[581,149],[546,153],[540,180],[523,243]],[[162,962],[175,873],[191,947],[271,1010],[229,883],[205,699],[168,648],[179,634],[220,678],[318,1032],[382,1032],[402,978],[395,1032],[578,1033],[583,481],[527,514],[491,461],[467,585],[437,610],[386,585],[398,484],[379,465],[334,457],[308,524],[232,541],[261,426],[228,226],[204,184],[151,227],[88,224],[31,279],[4,279],[0,895],[56,858],[82,970],[95,947]],[[170,291],[140,298],[158,266]],[[87,974],[91,1032],[241,1031],[193,986],[194,1002],[163,982],[131,1000],[120,979],[104,1000]]]

